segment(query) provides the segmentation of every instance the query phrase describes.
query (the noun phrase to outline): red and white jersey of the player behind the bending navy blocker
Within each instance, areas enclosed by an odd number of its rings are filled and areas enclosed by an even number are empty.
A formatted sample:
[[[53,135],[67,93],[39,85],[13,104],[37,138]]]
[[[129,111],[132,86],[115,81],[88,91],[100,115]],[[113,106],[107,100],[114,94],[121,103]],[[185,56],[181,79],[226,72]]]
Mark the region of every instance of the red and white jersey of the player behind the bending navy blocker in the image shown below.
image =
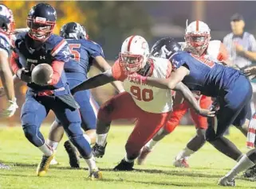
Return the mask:
[[[179,44],[181,44],[183,49],[186,47],[186,42]],[[220,40],[211,40],[203,56],[214,62],[222,62],[228,59],[228,52],[225,45]]]

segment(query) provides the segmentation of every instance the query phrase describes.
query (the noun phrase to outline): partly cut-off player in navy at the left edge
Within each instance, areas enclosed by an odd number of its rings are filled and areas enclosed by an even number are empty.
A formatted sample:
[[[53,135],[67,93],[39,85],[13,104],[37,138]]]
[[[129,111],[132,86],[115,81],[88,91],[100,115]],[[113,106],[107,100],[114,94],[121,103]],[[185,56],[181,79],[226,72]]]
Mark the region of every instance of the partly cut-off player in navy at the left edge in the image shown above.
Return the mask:
[[[14,94],[13,76],[9,67],[10,35],[14,32],[14,17],[11,10],[0,5],[0,77],[8,98],[7,107],[0,111],[0,118],[11,117],[18,108]],[[1,168],[9,168],[0,163]]]

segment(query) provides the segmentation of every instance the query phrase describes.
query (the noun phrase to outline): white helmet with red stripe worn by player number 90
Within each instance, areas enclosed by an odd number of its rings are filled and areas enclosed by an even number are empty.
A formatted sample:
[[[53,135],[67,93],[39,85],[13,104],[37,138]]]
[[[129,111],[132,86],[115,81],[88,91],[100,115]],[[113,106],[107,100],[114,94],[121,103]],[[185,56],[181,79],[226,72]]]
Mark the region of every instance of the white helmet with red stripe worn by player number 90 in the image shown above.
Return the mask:
[[[148,42],[141,36],[130,36],[122,44],[119,54],[120,66],[125,74],[139,71],[147,63],[149,56]]]

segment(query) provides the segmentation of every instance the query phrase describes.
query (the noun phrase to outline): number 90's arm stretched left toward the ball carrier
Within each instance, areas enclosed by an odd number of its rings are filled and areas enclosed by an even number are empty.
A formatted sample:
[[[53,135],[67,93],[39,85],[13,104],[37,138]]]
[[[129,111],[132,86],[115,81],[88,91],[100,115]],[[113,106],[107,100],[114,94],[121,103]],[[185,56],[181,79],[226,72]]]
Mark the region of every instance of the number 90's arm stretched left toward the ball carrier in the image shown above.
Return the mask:
[[[90,79],[87,79],[85,82],[81,83],[80,85],[77,85],[77,87],[74,87],[71,92],[74,94],[77,91],[84,91],[87,89],[92,89],[95,87],[102,86],[107,83],[111,83],[115,81],[116,79],[112,76],[112,69],[108,69],[108,71],[104,71],[103,73],[96,75]]]

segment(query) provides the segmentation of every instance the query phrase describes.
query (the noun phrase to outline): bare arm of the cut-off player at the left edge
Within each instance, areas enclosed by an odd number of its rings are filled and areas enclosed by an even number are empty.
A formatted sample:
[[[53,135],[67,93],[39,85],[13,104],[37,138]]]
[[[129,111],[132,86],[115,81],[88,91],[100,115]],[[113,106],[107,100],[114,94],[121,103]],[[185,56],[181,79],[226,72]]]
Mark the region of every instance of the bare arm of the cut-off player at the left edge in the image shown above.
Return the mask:
[[[0,51],[0,76],[7,98],[13,101],[15,99],[13,75],[10,71],[7,52],[4,51]]]

